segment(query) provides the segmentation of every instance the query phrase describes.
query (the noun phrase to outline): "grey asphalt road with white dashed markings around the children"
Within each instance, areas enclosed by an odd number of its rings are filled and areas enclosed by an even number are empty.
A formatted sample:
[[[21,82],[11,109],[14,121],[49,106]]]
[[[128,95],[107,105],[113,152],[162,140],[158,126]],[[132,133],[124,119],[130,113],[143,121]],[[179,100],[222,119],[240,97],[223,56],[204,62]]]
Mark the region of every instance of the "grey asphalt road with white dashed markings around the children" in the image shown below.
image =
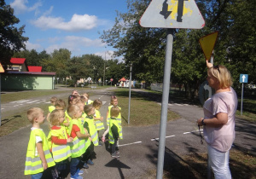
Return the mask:
[[[90,99],[103,101],[101,113],[106,118],[111,92],[95,90]],[[80,91],[79,91],[80,92]],[[141,92],[141,91],[140,91]],[[58,98],[67,97],[62,94]],[[44,96],[31,101],[49,101],[51,96]],[[172,101],[172,99],[171,99]],[[30,101],[26,101],[30,102]],[[17,110],[34,107],[33,103],[26,103],[15,107]],[[2,104],[4,110],[11,110],[17,105],[13,101]],[[166,160],[165,164],[180,160],[180,156],[189,153],[206,153],[207,144],[201,145],[199,132],[195,121],[203,116],[202,108],[176,103],[172,101],[169,109],[179,113],[181,118],[166,124]],[[2,110],[3,113],[3,110]],[[47,124],[43,125],[44,132],[48,134]],[[154,178],[152,171],[156,170],[158,141],[160,133],[159,124],[145,127],[124,127],[124,140],[119,141],[121,157],[113,159],[108,153],[107,146],[95,147],[95,165],[84,170],[84,178]],[[16,130],[8,136],[0,137],[0,178],[30,178],[24,176],[26,147],[29,140],[30,126]],[[256,125],[236,119],[236,141],[234,147],[249,150],[256,154],[255,147]],[[207,169],[206,169],[207,170]]]

